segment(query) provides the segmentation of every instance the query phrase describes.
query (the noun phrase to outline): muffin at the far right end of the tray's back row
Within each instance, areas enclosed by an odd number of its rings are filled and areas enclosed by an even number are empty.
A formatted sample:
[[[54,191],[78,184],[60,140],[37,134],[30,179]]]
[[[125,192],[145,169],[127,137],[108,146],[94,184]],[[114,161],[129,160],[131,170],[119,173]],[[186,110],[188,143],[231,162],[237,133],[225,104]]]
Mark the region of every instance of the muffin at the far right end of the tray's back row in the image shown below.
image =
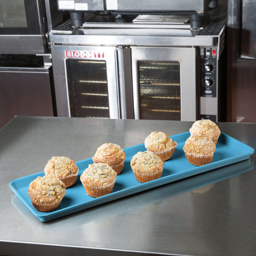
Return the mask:
[[[206,136],[213,140],[215,145],[217,144],[218,137],[221,135],[221,131],[218,126],[208,119],[195,121],[192,127],[189,129],[190,134],[197,136]]]

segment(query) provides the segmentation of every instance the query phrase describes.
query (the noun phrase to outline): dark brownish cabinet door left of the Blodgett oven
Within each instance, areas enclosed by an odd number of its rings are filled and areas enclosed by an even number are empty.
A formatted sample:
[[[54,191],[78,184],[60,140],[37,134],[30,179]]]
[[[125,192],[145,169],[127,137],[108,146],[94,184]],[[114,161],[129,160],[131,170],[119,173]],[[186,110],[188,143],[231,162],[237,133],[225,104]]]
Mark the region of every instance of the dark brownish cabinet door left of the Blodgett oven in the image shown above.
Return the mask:
[[[14,116],[53,116],[48,69],[0,69],[0,128]]]

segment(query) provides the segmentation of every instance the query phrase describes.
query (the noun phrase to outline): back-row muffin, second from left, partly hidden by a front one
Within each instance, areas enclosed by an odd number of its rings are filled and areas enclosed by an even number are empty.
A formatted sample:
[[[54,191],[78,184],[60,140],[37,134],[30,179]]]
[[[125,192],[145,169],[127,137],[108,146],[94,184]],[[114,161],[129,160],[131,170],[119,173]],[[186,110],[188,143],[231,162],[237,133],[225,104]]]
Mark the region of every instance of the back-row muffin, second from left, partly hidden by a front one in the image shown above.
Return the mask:
[[[122,172],[125,157],[125,151],[119,145],[105,143],[97,149],[93,163],[106,163],[114,169],[116,174],[119,174]]]

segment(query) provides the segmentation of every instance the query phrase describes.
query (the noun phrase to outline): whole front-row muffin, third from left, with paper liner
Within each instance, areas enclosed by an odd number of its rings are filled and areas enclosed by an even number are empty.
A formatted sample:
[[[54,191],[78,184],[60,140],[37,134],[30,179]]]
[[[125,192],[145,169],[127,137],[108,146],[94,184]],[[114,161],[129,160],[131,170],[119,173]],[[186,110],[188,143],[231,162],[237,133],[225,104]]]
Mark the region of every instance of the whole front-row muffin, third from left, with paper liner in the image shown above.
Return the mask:
[[[151,151],[138,152],[131,159],[131,169],[141,183],[161,177],[164,161]]]

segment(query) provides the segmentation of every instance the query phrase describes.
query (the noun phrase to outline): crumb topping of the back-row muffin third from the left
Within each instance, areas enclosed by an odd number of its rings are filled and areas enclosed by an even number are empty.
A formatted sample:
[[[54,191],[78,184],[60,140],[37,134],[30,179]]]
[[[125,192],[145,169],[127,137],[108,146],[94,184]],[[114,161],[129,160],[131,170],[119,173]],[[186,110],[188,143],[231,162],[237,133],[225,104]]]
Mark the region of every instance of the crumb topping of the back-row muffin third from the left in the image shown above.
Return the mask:
[[[175,145],[175,142],[162,131],[153,131],[145,139],[145,148],[150,151],[163,151]]]

